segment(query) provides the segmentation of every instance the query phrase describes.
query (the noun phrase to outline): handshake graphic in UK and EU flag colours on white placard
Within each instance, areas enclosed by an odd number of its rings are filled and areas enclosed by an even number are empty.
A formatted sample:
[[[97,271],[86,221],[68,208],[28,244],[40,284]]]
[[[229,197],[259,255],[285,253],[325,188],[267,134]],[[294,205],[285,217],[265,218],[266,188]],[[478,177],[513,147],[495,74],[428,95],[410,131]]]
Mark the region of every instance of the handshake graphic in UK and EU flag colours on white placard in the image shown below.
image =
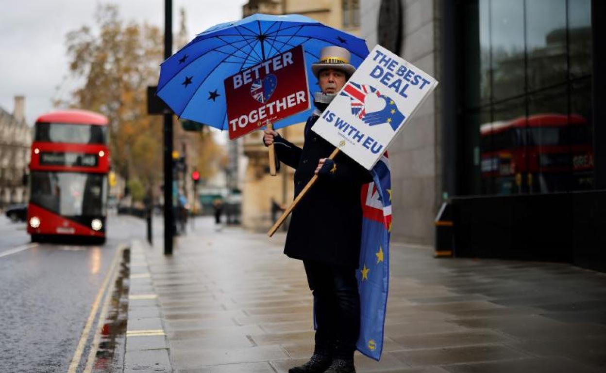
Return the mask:
[[[396,131],[404,121],[405,115],[399,111],[395,101],[382,95],[373,86],[350,82],[341,92],[341,96],[350,97],[351,114],[369,126],[389,123],[393,131]]]

